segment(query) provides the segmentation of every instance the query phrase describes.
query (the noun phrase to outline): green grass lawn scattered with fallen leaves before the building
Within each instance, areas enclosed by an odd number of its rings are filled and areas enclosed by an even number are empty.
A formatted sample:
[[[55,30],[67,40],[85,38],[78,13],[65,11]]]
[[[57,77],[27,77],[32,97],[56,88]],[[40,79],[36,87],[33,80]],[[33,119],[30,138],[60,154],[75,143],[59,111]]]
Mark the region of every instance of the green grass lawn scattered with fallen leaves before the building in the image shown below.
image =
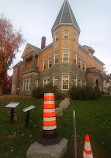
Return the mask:
[[[10,109],[5,105],[20,102],[15,109],[14,122],[10,122]],[[56,101],[56,106],[60,101]],[[23,108],[35,105],[30,113],[29,128],[25,128],[26,113]],[[73,110],[76,111],[78,158],[82,158],[85,135],[89,134],[95,158],[111,157],[111,97],[90,101],[71,101],[64,110],[64,117],[57,119],[58,133],[68,138],[68,150],[64,158],[73,158]],[[43,100],[0,100],[0,158],[25,158],[29,146],[42,134]]]

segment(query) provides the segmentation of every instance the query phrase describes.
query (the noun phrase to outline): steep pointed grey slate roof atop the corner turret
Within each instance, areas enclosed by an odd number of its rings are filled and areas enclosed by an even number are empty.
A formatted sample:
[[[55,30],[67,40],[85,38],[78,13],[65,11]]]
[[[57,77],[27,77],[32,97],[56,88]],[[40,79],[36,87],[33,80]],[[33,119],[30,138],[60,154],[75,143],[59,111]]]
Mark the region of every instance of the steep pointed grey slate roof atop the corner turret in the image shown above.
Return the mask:
[[[52,31],[60,24],[72,24],[80,32],[79,25],[76,21],[68,0],[64,0],[64,3],[52,27]]]

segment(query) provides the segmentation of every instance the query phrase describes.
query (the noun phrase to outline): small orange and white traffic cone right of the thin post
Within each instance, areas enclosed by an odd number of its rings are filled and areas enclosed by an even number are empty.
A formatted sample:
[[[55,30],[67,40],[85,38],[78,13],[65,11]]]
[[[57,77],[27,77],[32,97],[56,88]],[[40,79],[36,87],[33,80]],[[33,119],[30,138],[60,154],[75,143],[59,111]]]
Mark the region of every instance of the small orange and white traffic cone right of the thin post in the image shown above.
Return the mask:
[[[89,139],[88,134],[86,134],[86,138],[85,138],[83,158],[93,158],[90,139]]]

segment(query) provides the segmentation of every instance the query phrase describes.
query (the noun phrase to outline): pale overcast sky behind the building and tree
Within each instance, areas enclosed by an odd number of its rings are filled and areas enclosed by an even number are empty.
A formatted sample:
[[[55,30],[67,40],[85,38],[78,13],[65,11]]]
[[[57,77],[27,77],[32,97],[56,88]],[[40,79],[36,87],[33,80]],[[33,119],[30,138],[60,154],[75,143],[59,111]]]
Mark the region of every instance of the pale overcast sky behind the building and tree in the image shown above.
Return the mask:
[[[0,0],[0,14],[22,28],[26,41],[40,47],[41,37],[52,42],[51,28],[64,0]],[[111,73],[111,0],[69,0],[81,29],[79,43],[91,46]],[[21,60],[26,43],[12,66]],[[9,71],[12,74],[12,71]]]

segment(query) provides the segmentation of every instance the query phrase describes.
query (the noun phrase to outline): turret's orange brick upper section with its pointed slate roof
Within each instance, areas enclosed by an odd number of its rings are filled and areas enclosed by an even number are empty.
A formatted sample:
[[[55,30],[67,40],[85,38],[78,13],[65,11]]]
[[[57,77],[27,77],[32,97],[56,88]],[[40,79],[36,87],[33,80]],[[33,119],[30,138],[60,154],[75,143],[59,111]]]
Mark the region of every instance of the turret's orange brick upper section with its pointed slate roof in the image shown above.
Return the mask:
[[[73,63],[74,51],[78,51],[79,33],[80,28],[70,4],[68,0],[64,0],[52,27],[55,63],[56,58],[58,58],[58,63]]]

